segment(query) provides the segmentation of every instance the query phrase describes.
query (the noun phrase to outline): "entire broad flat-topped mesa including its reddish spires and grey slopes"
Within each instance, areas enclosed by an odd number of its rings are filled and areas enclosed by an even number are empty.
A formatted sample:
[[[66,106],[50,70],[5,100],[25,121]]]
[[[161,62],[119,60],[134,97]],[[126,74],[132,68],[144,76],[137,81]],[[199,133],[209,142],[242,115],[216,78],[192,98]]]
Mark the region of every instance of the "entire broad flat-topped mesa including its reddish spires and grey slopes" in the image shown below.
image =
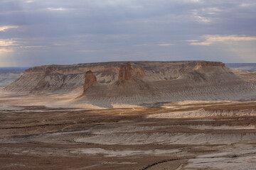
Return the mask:
[[[238,77],[225,64],[206,61],[33,67],[6,90],[69,93],[81,86],[83,95],[76,102],[107,107],[114,103],[250,100],[256,96],[255,86]]]

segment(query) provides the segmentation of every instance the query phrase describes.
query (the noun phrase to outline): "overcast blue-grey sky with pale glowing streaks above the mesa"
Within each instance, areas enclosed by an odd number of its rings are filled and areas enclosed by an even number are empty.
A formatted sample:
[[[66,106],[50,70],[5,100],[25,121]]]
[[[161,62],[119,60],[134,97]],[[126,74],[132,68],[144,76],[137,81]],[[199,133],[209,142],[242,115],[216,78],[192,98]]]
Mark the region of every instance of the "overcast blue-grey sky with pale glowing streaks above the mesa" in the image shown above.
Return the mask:
[[[0,0],[0,67],[256,62],[255,0]]]

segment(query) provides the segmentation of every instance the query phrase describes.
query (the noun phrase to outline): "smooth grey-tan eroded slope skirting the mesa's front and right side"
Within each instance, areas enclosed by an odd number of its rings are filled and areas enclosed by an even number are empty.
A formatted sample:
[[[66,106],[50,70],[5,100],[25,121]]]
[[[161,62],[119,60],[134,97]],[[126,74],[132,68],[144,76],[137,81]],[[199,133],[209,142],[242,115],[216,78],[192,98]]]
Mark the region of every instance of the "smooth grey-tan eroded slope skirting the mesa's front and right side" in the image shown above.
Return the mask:
[[[110,107],[186,100],[251,100],[256,99],[256,93],[230,69],[210,66],[191,69],[173,80],[134,77],[122,84],[97,84],[86,91],[85,98],[80,101]]]

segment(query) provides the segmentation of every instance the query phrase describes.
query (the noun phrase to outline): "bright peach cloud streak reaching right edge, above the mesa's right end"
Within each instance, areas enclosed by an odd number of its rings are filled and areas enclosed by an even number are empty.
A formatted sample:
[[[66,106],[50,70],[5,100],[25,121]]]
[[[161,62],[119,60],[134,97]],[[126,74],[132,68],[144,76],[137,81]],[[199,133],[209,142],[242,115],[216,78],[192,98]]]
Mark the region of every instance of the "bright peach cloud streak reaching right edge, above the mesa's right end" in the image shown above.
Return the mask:
[[[206,40],[187,40],[191,45],[212,45],[216,42],[238,42],[238,41],[256,41],[256,37],[238,36],[238,35],[204,35]]]

